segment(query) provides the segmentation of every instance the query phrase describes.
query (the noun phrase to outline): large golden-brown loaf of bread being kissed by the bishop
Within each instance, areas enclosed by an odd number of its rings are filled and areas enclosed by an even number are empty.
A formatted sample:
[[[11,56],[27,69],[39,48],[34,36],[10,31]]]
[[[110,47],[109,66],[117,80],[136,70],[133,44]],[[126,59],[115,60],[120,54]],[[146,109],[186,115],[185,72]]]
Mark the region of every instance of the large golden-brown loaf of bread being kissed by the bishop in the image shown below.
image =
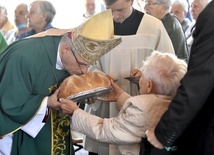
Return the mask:
[[[67,77],[60,84],[59,98],[67,98],[83,91],[89,91],[99,87],[110,87],[110,78],[100,72],[91,72],[82,75]]]

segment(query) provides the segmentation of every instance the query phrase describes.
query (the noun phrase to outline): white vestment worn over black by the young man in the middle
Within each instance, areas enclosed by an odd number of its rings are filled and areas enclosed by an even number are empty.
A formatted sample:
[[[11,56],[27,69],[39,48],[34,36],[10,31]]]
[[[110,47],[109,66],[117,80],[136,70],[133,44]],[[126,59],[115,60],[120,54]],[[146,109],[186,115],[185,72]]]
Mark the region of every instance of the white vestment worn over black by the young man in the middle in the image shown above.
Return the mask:
[[[147,14],[144,14],[136,35],[121,37],[122,43],[101,57],[97,66],[113,78],[119,78],[117,84],[125,92],[137,95],[137,86],[122,78],[129,76],[132,69],[142,67],[142,61],[153,50],[174,53],[173,45],[162,22]],[[85,110],[102,118],[114,117],[118,114],[115,103],[96,102],[91,106],[97,111],[93,111],[88,105]],[[84,138],[84,148],[102,155],[120,154],[115,146],[109,147],[108,144],[98,143],[89,137]]]

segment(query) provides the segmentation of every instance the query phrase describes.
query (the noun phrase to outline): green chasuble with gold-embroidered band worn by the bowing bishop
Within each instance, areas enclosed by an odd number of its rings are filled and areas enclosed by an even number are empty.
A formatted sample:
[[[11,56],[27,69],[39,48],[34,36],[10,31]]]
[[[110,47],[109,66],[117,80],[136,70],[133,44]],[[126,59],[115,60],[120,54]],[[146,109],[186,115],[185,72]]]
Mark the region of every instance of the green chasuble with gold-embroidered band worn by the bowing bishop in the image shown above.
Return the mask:
[[[50,110],[35,138],[21,130],[36,115],[44,97],[53,93],[53,86],[69,76],[65,70],[56,70],[60,39],[23,39],[0,56],[0,137],[13,133],[12,155],[72,154],[68,116]]]

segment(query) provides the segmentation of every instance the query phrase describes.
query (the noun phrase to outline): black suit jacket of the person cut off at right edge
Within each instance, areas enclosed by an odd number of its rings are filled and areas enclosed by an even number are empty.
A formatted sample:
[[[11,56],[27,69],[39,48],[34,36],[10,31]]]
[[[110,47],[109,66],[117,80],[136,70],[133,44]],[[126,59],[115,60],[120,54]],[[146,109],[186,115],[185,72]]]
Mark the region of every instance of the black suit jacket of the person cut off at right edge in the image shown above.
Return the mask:
[[[178,154],[214,154],[214,1],[200,13],[193,34],[188,72],[155,129],[164,146]]]

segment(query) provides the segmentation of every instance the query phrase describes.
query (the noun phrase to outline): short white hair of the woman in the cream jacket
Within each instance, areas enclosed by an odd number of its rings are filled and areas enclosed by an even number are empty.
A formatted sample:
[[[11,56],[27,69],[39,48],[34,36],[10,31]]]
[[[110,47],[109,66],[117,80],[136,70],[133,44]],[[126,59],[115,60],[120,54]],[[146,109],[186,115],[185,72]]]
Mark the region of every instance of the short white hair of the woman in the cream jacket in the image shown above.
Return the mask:
[[[145,80],[153,81],[157,93],[175,96],[180,80],[187,71],[187,63],[176,55],[154,51],[143,63]]]

